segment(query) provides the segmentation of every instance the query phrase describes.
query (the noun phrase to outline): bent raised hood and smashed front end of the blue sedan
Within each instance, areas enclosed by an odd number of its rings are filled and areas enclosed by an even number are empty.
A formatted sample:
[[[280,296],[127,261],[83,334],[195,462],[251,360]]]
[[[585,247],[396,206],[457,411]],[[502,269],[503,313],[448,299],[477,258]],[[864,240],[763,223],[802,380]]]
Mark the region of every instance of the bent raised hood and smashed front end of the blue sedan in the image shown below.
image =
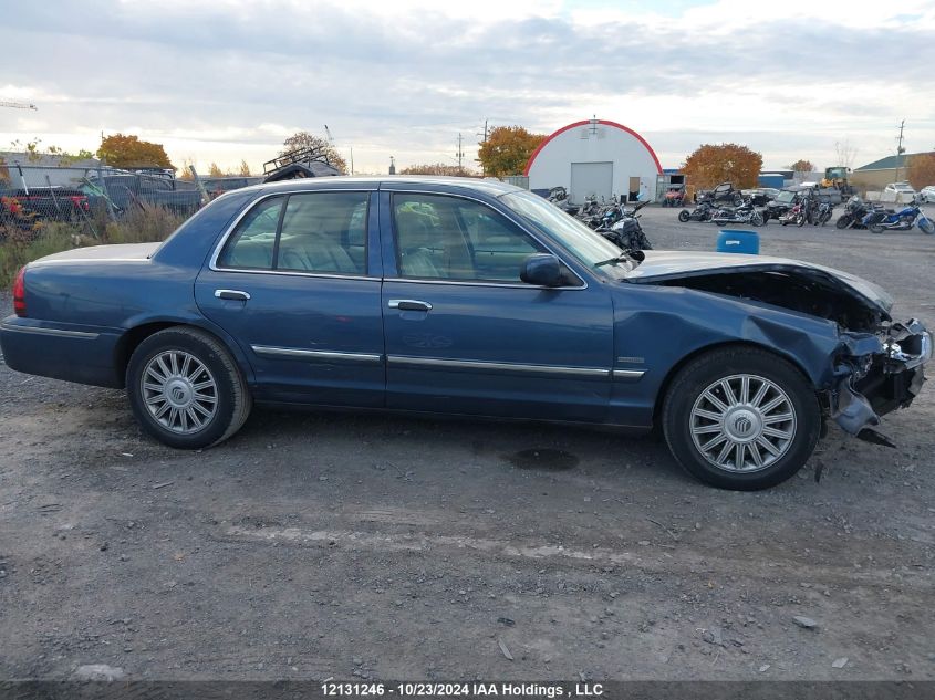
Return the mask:
[[[825,372],[817,373],[822,376],[813,375],[815,388],[827,415],[861,439],[892,446],[872,427],[881,416],[908,406],[925,382],[924,365],[932,358],[928,331],[914,318],[894,322],[889,294],[839,270],[756,255],[651,251],[628,281],[762,302],[833,322],[839,343],[829,348]],[[772,344],[789,349],[782,342]]]

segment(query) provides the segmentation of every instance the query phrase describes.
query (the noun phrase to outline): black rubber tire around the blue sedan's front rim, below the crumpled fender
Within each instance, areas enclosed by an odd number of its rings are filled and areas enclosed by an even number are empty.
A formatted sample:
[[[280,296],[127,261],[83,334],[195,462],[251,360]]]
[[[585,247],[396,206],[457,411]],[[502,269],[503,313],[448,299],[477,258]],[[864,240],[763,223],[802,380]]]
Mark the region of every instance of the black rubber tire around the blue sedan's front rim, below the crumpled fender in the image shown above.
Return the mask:
[[[759,438],[752,440],[757,443],[756,449],[760,456],[767,455],[767,459],[772,459],[772,462],[747,471],[733,471],[709,461],[702,451],[704,446],[699,447],[695,443],[692,426],[695,420],[693,409],[697,403],[705,400],[703,396],[711,388],[711,385],[729,377],[735,383],[733,386],[737,387],[736,383],[739,379],[736,377],[739,375],[755,376],[772,383],[785,393],[788,401],[781,406],[788,406],[788,412],[793,417],[791,438],[783,447],[778,448],[778,457],[773,458],[771,455],[760,452]],[[755,385],[756,382],[751,379],[750,391]],[[778,391],[776,394],[771,391],[772,389],[766,396],[779,396]],[[785,411],[787,408],[783,407],[781,410]],[[736,424],[739,425],[739,420],[736,420]],[[720,489],[756,491],[786,481],[804,466],[821,433],[821,409],[809,380],[788,361],[763,349],[734,346],[705,353],[678,372],[663,403],[662,427],[673,456],[695,478]],[[786,430],[790,430],[788,424]],[[718,447],[723,445],[725,443]],[[740,461],[746,463],[748,453],[752,460],[752,450],[745,445],[740,452]],[[729,455],[729,457],[733,456]],[[735,459],[735,464],[737,461]]]

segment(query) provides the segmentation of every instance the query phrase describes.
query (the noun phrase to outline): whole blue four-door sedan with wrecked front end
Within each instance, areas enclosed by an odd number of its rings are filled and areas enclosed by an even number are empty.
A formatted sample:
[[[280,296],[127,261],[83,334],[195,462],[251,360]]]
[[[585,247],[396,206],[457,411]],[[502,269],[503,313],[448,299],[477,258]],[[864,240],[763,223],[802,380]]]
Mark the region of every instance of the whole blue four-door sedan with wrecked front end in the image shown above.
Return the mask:
[[[252,405],[661,428],[700,480],[777,484],[828,420],[860,438],[932,356],[874,284],[758,255],[625,251],[492,180],[320,178],[224,195],[162,244],[27,265],[24,373],[125,387],[175,448]]]

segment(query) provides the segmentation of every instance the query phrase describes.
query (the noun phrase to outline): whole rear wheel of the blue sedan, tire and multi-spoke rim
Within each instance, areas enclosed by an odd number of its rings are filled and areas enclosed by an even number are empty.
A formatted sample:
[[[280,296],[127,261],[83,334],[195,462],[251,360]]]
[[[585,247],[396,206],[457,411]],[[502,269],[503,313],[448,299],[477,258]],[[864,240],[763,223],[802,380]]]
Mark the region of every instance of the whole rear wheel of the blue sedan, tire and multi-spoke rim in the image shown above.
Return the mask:
[[[179,449],[217,445],[240,429],[252,400],[240,370],[211,335],[190,327],[143,341],[126,370],[129,405],[143,429]]]

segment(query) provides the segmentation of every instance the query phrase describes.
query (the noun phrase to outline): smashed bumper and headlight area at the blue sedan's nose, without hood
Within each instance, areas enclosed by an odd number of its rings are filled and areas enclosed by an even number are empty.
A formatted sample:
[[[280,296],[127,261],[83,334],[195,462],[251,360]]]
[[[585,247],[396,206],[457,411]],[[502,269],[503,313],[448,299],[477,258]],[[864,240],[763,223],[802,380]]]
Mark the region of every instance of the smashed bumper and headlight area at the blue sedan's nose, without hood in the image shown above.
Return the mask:
[[[932,358],[932,335],[913,318],[872,336],[844,333],[842,341],[835,385],[828,393],[830,416],[846,432],[892,447],[871,426],[918,395],[924,365]]]

